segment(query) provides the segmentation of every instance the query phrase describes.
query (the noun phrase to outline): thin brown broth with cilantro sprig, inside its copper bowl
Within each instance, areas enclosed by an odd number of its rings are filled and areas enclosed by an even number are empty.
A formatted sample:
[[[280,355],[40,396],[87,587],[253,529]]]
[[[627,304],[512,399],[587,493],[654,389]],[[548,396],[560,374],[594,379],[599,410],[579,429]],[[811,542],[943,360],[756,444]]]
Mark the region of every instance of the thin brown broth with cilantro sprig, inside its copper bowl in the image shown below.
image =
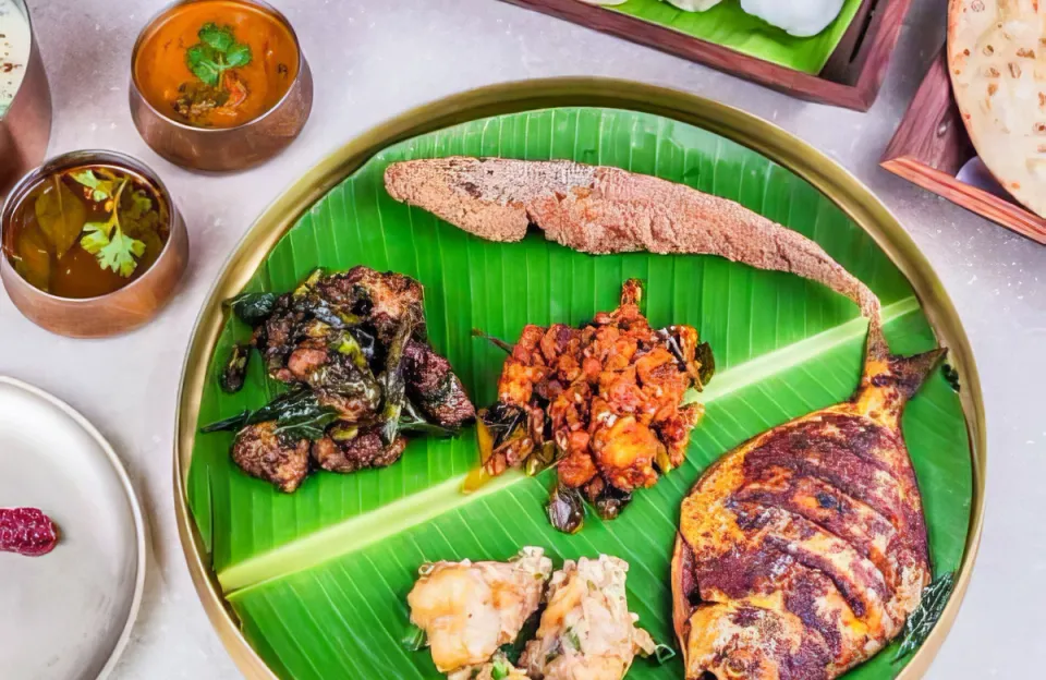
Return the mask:
[[[82,166],[47,175],[14,208],[4,256],[34,288],[97,298],[146,271],[167,243],[169,207],[141,175]]]

